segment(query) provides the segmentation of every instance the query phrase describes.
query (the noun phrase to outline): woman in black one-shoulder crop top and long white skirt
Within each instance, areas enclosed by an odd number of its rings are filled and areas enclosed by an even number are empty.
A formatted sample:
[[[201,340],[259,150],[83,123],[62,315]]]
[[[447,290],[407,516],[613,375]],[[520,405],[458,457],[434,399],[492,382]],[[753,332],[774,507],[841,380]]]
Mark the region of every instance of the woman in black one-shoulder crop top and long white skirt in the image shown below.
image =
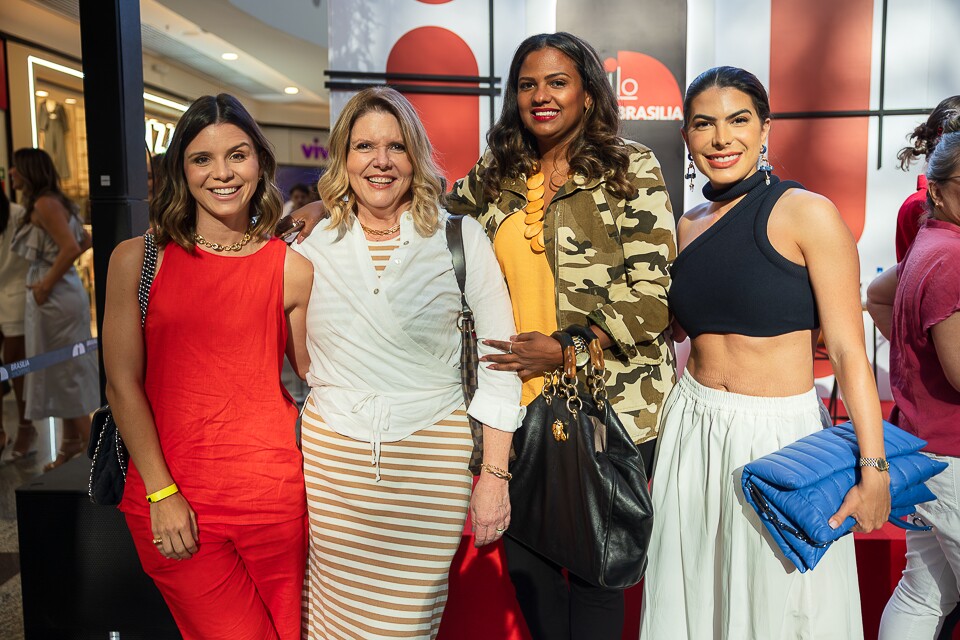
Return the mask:
[[[644,640],[863,637],[852,537],[800,574],[739,488],[743,465],[829,424],[813,386],[821,325],[861,455],[884,457],[854,239],[829,200],[771,175],[769,132],[752,74],[718,67],[688,88],[682,135],[708,201],[680,220],[671,272],[691,353],[660,427]],[[831,520],[880,527],[888,486],[864,468]]]

